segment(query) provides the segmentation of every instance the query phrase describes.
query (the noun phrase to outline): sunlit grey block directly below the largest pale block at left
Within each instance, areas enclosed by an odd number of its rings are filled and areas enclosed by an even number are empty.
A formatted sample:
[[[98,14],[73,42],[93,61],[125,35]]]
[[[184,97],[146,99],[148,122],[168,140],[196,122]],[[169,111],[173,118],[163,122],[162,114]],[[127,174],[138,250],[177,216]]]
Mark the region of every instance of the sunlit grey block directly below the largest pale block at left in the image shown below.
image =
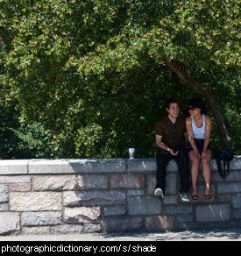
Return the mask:
[[[62,224],[62,212],[61,211],[23,212],[21,220],[22,220],[23,226]]]

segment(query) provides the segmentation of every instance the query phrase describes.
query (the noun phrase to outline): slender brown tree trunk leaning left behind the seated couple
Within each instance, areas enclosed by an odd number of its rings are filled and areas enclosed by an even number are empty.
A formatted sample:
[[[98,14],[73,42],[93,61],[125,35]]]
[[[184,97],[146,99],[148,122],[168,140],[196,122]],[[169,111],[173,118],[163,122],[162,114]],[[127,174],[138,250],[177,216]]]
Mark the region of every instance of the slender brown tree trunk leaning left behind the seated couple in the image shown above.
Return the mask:
[[[196,82],[183,65],[175,60],[166,59],[165,63],[180,79],[181,84],[188,86],[189,89],[194,90],[196,93],[201,94],[209,100],[211,110],[213,112],[216,124],[221,132],[223,140],[223,146],[225,149],[231,150],[230,136],[224,124],[223,116],[219,110],[218,104],[216,103],[215,97],[208,88],[202,87],[202,85]]]

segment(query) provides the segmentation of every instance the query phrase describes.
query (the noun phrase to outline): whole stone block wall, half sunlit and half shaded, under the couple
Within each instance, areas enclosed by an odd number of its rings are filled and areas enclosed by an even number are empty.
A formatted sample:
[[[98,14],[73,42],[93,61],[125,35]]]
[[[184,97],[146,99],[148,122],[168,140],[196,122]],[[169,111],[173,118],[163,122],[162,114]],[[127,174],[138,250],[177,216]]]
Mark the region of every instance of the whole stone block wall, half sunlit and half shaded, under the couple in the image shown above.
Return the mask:
[[[177,166],[164,200],[154,159],[0,160],[0,235],[183,231],[241,226],[241,157],[223,181],[211,161],[211,200],[181,203]]]

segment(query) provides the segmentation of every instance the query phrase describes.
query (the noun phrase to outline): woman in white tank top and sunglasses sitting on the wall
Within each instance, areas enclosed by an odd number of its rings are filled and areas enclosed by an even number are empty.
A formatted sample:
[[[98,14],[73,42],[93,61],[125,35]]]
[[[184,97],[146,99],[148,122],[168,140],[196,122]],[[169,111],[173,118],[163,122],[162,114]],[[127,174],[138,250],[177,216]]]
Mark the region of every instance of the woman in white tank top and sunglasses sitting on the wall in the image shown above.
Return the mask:
[[[195,98],[188,103],[190,117],[186,118],[188,132],[188,157],[192,163],[192,199],[197,200],[196,182],[198,178],[198,166],[202,162],[202,174],[205,181],[205,199],[211,199],[210,195],[210,159],[212,153],[209,148],[211,132],[211,120],[205,115],[205,108],[201,99]]]

